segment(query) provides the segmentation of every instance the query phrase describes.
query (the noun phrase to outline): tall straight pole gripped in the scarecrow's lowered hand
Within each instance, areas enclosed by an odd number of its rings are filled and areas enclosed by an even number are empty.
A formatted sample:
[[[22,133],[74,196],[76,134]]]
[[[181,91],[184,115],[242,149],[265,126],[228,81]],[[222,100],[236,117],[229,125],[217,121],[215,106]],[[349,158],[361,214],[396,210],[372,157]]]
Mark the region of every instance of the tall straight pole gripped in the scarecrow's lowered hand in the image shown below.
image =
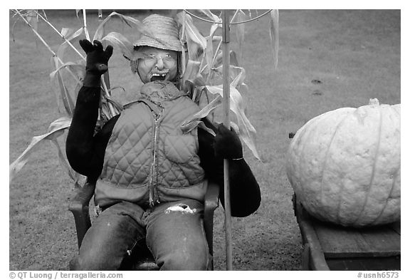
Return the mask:
[[[224,125],[231,129],[229,119],[230,110],[230,90],[229,90],[229,15],[228,10],[222,11],[222,65],[223,65],[223,106],[224,106]],[[224,201],[225,201],[225,237],[226,237],[226,270],[232,270],[232,219],[231,219],[231,197],[229,187],[229,162],[224,159]]]

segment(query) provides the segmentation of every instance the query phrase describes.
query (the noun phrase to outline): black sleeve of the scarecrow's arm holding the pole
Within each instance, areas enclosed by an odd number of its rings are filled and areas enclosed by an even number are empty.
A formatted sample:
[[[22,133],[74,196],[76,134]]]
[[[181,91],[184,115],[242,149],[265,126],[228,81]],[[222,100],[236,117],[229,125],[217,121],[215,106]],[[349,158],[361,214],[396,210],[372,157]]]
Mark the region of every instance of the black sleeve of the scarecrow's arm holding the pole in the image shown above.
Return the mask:
[[[216,131],[209,120],[203,121],[207,127]],[[208,180],[219,185],[221,204],[224,206],[224,160],[215,156],[213,135],[199,128],[198,140],[201,167],[204,168]],[[233,217],[246,217],[258,209],[261,204],[261,190],[245,160],[229,160],[229,185]]]

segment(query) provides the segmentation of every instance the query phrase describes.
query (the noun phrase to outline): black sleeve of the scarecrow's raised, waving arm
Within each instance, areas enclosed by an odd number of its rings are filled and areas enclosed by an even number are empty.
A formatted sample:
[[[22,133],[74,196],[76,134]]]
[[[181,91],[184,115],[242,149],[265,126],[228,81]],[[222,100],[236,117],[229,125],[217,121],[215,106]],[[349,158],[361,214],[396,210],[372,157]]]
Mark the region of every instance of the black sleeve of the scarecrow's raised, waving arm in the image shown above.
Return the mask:
[[[115,116],[107,121],[95,134],[99,103],[100,88],[80,88],[65,142],[65,152],[71,167],[87,176],[90,182],[95,182],[101,173],[105,148],[118,118]]]

